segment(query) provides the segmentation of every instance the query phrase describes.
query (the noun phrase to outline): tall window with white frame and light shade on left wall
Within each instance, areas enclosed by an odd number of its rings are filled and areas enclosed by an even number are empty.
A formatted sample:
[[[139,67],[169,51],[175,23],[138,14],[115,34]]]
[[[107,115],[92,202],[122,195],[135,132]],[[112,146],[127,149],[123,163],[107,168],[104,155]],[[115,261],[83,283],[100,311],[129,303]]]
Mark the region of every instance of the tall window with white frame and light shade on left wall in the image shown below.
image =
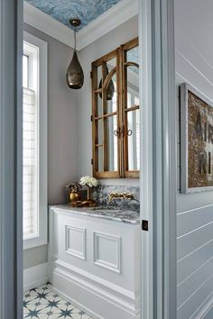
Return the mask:
[[[47,242],[47,43],[23,36],[23,247]]]

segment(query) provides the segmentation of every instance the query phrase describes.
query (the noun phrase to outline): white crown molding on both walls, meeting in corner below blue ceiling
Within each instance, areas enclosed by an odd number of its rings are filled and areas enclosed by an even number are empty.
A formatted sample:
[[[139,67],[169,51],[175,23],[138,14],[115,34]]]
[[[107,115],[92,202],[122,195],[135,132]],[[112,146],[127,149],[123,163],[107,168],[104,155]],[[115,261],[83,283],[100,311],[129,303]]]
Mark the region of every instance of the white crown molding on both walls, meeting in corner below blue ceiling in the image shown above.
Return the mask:
[[[138,0],[121,0],[78,32],[77,49],[84,49],[88,44],[125,23],[136,14],[138,14]],[[74,47],[73,31],[71,29],[25,1],[23,1],[23,21],[52,38],[69,45],[69,47]]]

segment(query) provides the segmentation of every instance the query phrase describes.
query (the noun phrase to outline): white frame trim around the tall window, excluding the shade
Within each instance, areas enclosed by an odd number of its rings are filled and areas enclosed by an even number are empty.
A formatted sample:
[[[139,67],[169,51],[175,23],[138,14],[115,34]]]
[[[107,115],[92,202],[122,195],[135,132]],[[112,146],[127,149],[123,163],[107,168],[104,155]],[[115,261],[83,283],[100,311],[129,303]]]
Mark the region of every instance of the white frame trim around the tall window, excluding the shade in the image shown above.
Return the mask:
[[[24,41],[32,48],[28,51]],[[27,46],[28,47],[28,46]],[[23,32],[23,52],[30,57],[29,88],[35,91],[38,120],[38,183],[37,183],[37,228],[36,235],[23,239],[23,249],[44,245],[47,239],[47,42]],[[33,77],[31,77],[33,74]]]

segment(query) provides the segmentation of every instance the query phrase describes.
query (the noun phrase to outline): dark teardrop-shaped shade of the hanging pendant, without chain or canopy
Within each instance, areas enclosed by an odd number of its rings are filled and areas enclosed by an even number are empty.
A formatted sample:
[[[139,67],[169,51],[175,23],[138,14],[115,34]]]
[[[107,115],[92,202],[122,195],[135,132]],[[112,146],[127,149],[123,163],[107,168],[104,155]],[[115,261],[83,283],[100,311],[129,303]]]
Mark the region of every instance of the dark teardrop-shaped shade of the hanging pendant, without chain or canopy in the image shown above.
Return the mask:
[[[70,88],[79,89],[84,84],[84,73],[79,64],[79,59],[76,50],[69,64],[67,71],[67,83]]]

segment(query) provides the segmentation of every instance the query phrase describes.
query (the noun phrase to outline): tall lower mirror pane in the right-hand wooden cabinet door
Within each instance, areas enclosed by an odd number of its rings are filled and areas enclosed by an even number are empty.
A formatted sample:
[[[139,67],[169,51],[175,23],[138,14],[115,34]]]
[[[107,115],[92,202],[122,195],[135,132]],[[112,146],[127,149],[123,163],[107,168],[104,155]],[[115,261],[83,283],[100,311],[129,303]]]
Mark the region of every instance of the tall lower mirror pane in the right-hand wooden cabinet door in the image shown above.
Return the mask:
[[[140,110],[127,113],[128,170],[140,170]]]

